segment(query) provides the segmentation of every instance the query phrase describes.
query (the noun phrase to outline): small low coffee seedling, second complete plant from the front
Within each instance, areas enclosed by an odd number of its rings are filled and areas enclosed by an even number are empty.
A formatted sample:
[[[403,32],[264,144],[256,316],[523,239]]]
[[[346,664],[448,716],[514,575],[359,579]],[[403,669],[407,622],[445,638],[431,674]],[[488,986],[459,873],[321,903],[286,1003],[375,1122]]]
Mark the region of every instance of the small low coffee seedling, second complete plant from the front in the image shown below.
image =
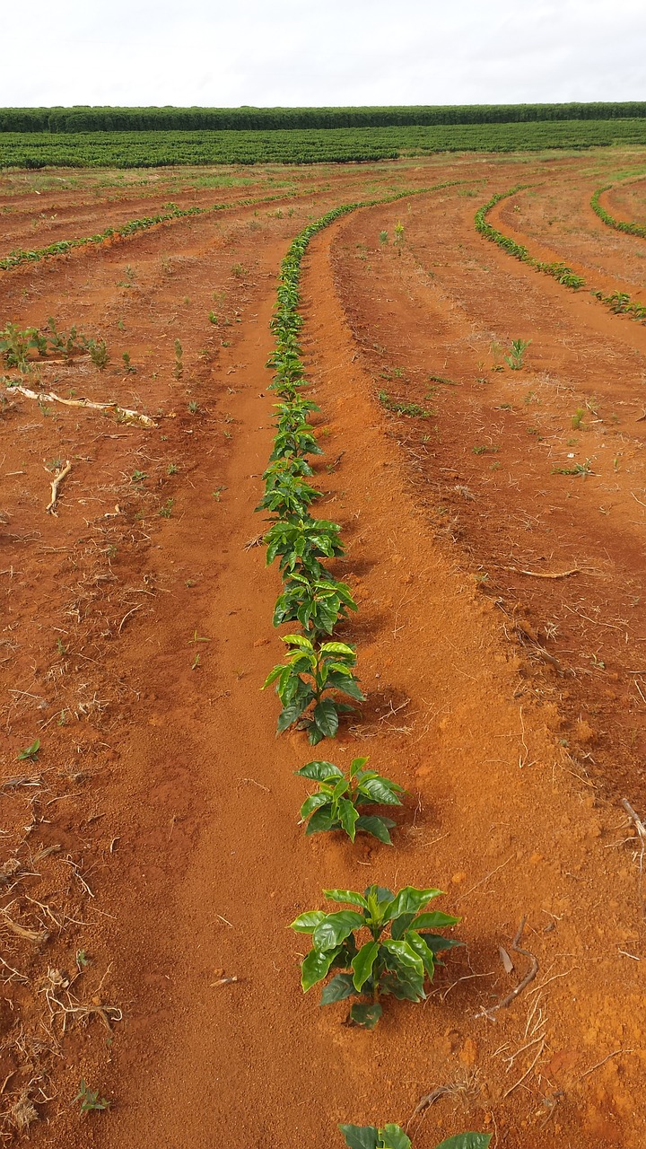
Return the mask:
[[[295,773],[318,782],[318,791],[301,805],[300,816],[307,822],[306,834],[328,830],[344,830],[353,842],[357,832],[371,834],[391,846],[390,830],[397,825],[392,818],[360,813],[360,805],[401,805],[398,794],[403,787],[382,777],[376,770],[364,770],[368,758],[354,758],[349,776],[331,762],[308,762]]]

